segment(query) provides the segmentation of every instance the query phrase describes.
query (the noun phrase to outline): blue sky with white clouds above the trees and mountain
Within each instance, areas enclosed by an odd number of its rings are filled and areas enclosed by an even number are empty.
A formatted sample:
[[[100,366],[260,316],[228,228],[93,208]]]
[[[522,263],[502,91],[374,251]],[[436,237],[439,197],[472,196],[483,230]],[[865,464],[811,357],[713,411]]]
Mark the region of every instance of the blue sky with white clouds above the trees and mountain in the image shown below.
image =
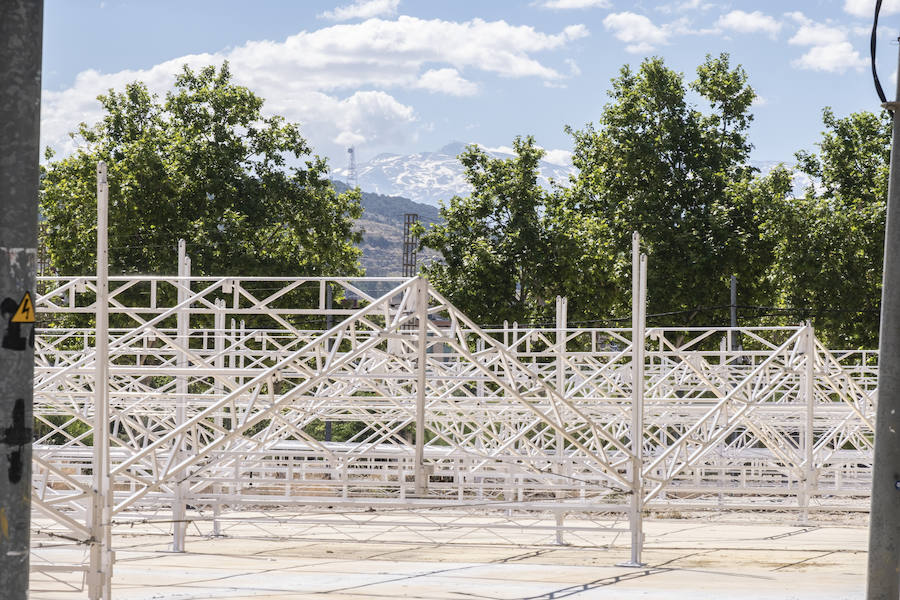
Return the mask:
[[[348,145],[489,148],[533,134],[565,161],[563,131],[599,118],[610,79],[650,55],[693,78],[728,52],[759,95],[756,160],[791,161],[821,110],[879,110],[868,64],[874,0],[46,0],[42,140],[100,116],[97,94],[140,79],[164,93],[180,65],[231,62],[270,112],[345,166]],[[885,0],[879,73],[893,96],[900,0]]]

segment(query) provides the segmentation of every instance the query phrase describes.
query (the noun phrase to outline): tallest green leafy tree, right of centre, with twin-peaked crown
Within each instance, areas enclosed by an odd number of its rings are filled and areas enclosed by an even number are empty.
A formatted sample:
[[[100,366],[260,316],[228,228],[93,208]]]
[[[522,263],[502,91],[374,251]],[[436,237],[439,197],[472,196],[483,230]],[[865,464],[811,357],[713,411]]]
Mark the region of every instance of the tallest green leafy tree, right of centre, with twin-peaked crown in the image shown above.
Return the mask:
[[[688,101],[689,91],[706,106]],[[662,59],[625,66],[597,126],[571,128],[578,168],[572,210],[603,222],[620,258],[615,279],[628,289],[630,238],[637,231],[650,255],[650,313],[678,312],[656,322],[727,323],[732,274],[742,302],[769,298],[765,274],[773,243],[764,226],[790,190],[789,174],[755,177],[747,132],[755,98],[744,70],[729,57],[707,56],[689,85]],[[620,294],[618,307],[627,313]]]

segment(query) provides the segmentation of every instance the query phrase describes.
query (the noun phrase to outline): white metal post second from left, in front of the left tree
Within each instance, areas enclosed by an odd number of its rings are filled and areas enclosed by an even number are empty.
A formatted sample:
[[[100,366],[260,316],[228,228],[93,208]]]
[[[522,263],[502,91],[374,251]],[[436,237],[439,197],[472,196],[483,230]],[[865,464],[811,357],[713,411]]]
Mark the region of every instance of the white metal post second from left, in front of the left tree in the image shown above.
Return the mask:
[[[191,267],[190,267],[190,259],[187,256],[187,244],[184,240],[178,240],[178,297],[177,302],[181,304],[185,300],[188,299],[188,286],[190,285],[190,275],[191,275]],[[190,313],[188,312],[187,307],[182,308],[178,311],[178,315],[176,316],[176,327],[177,331],[177,339],[178,345],[182,348],[187,348],[189,343],[188,340],[188,326],[190,320]],[[176,366],[178,369],[186,369],[187,364],[187,354],[183,350],[178,351],[178,356],[176,358]],[[179,426],[184,423],[185,420],[185,402],[187,401],[187,377],[183,374],[179,374],[175,379],[175,426]],[[178,447],[173,448],[173,452],[181,458],[181,455],[184,453],[184,441],[178,442]],[[184,552],[184,537],[187,532],[187,523],[185,522],[185,495],[187,492],[187,481],[178,482],[175,484],[175,494],[172,498],[172,551],[173,552]]]

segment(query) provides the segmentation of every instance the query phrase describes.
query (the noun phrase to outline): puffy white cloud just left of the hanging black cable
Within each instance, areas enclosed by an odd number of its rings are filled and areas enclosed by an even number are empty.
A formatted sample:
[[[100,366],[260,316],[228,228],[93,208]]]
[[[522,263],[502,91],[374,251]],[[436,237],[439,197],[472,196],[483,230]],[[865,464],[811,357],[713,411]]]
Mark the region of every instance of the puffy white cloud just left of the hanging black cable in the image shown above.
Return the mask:
[[[798,69],[843,73],[848,69],[862,69],[866,60],[848,39],[847,29],[825,23],[818,23],[802,12],[787,13],[799,24],[793,37],[788,40],[795,46],[810,46],[810,49],[791,64]]]

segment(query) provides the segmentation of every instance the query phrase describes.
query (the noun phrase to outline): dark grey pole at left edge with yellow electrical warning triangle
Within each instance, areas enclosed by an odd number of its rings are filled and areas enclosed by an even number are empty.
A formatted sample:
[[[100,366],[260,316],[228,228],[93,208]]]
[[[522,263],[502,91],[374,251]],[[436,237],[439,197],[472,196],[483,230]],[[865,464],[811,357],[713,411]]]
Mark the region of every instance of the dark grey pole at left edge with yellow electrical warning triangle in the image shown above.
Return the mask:
[[[28,596],[42,0],[0,0],[0,595]]]

